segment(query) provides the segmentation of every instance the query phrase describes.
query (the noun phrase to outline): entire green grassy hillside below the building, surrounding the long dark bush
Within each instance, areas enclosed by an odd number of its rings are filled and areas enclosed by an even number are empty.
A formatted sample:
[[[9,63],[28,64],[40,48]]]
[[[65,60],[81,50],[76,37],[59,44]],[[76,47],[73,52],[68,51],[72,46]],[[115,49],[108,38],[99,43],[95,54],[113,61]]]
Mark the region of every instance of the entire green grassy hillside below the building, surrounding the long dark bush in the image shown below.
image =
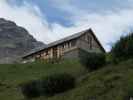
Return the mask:
[[[77,78],[76,88],[34,100],[125,100],[128,91],[133,91],[133,60],[108,65],[91,73],[87,73],[78,61],[15,64],[0,65],[0,99],[23,100],[17,88],[19,83],[61,72],[68,72]]]

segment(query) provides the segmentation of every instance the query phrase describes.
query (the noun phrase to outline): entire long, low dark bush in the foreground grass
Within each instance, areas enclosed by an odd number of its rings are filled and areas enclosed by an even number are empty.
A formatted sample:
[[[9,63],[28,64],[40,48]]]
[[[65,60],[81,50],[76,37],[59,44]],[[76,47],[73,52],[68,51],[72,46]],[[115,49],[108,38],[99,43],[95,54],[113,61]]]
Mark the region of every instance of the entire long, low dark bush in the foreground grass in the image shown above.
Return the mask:
[[[25,98],[52,96],[74,88],[75,78],[69,74],[55,74],[20,85]]]

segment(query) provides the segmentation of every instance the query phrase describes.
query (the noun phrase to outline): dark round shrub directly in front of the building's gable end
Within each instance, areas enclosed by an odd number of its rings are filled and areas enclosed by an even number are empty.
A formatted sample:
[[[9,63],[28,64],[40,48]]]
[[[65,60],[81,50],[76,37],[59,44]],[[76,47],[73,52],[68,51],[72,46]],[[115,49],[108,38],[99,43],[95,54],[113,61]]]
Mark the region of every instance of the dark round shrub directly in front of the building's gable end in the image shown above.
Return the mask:
[[[81,53],[80,53],[81,54]],[[106,57],[103,53],[82,53],[81,63],[90,71],[99,69],[106,63]]]

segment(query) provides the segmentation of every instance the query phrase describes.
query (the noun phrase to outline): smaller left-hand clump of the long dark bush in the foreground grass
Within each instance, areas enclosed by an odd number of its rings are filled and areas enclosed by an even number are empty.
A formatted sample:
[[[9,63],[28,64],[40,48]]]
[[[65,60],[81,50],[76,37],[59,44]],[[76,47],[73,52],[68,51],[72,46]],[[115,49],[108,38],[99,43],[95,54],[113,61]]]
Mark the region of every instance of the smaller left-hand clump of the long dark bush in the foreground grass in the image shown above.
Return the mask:
[[[39,81],[30,81],[20,85],[20,89],[24,97],[34,98],[40,96]]]

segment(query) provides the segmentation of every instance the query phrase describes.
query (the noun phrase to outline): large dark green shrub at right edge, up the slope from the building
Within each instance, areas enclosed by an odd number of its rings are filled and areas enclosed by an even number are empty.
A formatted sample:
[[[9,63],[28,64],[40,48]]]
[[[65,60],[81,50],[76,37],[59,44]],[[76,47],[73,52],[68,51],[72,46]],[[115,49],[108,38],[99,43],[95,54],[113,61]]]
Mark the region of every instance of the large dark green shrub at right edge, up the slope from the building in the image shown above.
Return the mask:
[[[112,47],[111,53],[115,61],[133,58],[133,33],[121,37]]]

